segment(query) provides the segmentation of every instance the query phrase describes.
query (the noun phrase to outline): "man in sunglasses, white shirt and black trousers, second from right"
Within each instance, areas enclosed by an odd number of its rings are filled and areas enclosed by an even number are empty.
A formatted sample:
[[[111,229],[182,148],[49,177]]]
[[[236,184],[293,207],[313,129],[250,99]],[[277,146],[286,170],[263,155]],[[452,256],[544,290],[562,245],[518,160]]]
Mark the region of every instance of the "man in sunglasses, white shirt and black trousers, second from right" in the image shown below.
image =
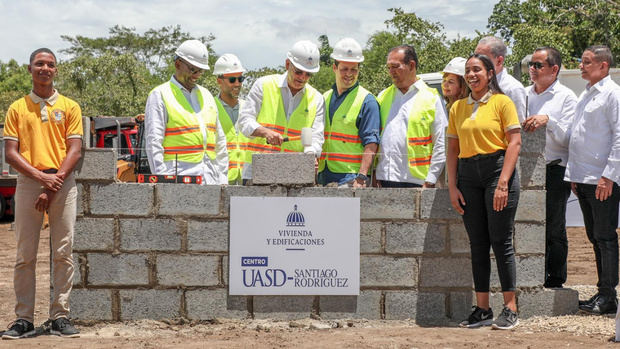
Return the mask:
[[[570,196],[570,184],[564,181],[564,172],[577,96],[557,79],[562,66],[562,55],[557,49],[548,46],[537,48],[529,66],[530,78],[534,84],[525,89],[530,116],[525,120],[523,130],[534,132],[546,126],[544,286],[561,288],[566,282],[566,203]]]

